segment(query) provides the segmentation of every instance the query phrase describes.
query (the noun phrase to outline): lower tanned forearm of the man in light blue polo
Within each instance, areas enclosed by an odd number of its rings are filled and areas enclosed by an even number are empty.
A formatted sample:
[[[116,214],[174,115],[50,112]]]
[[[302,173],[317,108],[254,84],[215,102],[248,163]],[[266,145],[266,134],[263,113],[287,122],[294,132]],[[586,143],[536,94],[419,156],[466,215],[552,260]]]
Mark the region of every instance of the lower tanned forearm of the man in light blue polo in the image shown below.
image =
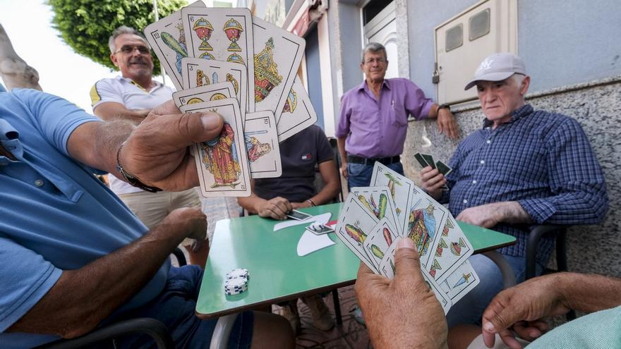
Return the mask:
[[[44,298],[8,331],[64,338],[88,333],[150,281],[185,237],[184,228],[164,219],[134,243],[80,269],[64,271]]]

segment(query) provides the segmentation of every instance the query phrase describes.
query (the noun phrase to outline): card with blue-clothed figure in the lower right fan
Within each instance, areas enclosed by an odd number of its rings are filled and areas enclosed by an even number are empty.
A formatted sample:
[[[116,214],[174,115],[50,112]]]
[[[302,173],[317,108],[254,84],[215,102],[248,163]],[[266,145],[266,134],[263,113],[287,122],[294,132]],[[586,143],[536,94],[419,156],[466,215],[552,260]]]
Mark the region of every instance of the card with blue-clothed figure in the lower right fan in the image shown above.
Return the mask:
[[[412,194],[413,200],[405,212],[408,220],[403,236],[414,241],[421,255],[421,266],[427,268],[435,241],[440,238],[450,213],[420,188],[414,187]]]

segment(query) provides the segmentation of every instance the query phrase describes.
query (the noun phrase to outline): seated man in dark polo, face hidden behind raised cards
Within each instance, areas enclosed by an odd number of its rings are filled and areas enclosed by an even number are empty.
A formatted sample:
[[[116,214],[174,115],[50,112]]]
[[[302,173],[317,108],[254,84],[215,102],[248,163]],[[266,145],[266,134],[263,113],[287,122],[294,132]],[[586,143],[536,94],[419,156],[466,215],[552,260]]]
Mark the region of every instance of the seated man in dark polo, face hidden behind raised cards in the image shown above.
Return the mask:
[[[339,178],[334,164],[334,155],[323,130],[311,125],[280,144],[282,176],[252,180],[252,195],[239,197],[237,202],[251,214],[272,219],[287,219],[291,209],[325,204],[339,192]],[[315,165],[325,183],[322,190],[315,190]],[[313,325],[321,330],[334,326],[322,298],[318,295],[304,297],[313,317]],[[296,333],[300,329],[300,318],[296,300],[288,302],[281,314],[289,319]]]

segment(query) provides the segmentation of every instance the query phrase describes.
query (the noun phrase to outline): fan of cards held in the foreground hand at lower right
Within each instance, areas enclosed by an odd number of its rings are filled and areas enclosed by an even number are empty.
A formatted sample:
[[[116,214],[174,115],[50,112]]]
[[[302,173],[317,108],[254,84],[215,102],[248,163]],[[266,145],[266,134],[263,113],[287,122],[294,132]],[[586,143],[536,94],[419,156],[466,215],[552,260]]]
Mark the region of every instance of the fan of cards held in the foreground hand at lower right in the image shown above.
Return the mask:
[[[377,274],[394,277],[394,250],[410,238],[421,270],[445,313],[478,284],[468,257],[472,245],[448,209],[409,178],[375,162],[370,187],[351,188],[337,236]]]

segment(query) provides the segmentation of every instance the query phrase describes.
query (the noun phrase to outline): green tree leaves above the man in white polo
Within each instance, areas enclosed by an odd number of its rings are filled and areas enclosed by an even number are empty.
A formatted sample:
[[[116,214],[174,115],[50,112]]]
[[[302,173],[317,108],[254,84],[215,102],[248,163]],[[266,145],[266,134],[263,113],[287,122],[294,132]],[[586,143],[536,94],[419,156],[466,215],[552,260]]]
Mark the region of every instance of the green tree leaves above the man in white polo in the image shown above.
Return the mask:
[[[52,27],[81,56],[88,57],[111,69],[108,39],[121,25],[133,27],[140,32],[155,22],[152,0],[48,0],[54,18]],[[163,18],[186,6],[185,0],[157,0],[159,18]],[[159,61],[153,56],[155,71]]]

